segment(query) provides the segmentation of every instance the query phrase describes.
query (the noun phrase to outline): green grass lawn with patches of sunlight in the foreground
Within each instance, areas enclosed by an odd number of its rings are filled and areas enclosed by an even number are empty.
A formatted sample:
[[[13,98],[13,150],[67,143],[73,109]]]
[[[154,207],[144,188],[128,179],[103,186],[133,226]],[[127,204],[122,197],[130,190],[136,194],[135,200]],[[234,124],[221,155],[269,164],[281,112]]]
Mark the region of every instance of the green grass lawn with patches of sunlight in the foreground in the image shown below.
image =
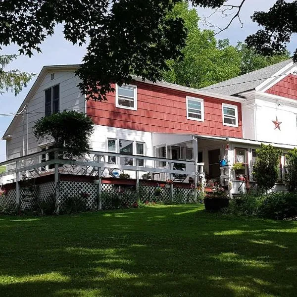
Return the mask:
[[[297,222],[203,206],[0,217],[0,296],[297,296]]]

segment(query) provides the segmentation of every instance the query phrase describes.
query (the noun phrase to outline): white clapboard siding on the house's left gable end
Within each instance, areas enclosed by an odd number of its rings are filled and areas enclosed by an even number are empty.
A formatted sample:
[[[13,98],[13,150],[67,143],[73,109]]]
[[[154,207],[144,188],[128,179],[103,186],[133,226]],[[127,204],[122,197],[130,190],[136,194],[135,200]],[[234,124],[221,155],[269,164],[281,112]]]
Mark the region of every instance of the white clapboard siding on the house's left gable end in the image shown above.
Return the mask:
[[[32,99],[28,103],[28,114],[18,115],[14,122],[10,135],[11,140],[7,140],[7,159],[19,157],[27,153],[39,150],[39,145],[32,135],[32,127],[35,122],[44,116],[44,92],[46,89],[60,84],[60,108],[61,110],[74,109],[85,112],[85,97],[77,87],[79,78],[72,71],[56,71],[54,79],[51,80],[52,72],[48,72]],[[28,132],[28,133],[27,133]],[[28,143],[28,148],[27,148]]]

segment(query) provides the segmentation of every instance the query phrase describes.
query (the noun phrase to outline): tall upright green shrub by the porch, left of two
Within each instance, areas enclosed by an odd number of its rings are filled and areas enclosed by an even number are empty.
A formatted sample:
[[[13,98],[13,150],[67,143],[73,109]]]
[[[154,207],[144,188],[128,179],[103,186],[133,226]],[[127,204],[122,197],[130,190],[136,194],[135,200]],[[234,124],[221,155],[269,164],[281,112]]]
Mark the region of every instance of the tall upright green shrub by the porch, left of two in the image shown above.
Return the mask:
[[[274,187],[278,179],[280,156],[282,151],[271,145],[261,144],[256,149],[256,162],[253,165],[253,176],[258,189],[268,191]]]

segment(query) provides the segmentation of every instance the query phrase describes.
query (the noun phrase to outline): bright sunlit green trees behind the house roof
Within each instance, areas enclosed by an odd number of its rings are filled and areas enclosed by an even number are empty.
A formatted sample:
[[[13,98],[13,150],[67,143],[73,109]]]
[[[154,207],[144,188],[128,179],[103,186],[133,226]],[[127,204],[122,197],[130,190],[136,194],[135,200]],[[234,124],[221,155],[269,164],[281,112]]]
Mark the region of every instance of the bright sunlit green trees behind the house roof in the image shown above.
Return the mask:
[[[216,40],[212,30],[198,28],[197,11],[186,1],[177,3],[168,17],[181,18],[188,34],[183,59],[167,61],[167,82],[199,89],[289,58],[289,53],[263,56],[242,42],[234,47],[228,39]]]

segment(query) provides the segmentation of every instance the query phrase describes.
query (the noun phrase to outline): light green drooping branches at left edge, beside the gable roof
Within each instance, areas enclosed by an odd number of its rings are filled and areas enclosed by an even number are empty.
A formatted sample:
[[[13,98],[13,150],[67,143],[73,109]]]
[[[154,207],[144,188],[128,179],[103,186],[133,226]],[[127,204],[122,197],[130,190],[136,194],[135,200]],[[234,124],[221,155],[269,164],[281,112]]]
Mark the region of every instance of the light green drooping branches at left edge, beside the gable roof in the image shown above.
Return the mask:
[[[16,96],[35,76],[33,73],[21,72],[18,69],[5,71],[4,68],[16,58],[16,54],[0,55],[0,94],[11,91]]]

